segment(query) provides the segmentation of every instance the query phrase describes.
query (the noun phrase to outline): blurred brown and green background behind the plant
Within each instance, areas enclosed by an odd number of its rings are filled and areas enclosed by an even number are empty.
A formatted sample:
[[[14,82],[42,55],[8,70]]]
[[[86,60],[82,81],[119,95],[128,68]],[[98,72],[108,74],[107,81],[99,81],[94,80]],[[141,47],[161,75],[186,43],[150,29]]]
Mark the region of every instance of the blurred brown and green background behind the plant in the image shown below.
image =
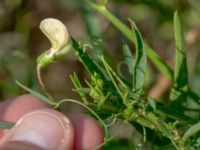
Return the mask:
[[[128,26],[128,18],[133,19],[147,43],[172,68],[175,55],[173,13],[178,10],[185,32],[191,89],[200,95],[200,1],[109,0],[108,7]],[[81,0],[0,0],[1,100],[24,93],[16,85],[15,79],[32,89],[39,89],[36,58],[50,47],[49,41],[39,30],[39,24],[48,17],[61,20],[75,39],[95,43],[97,52],[103,48],[108,57],[112,58],[114,67],[122,60],[123,43],[129,44],[134,53],[134,45]],[[80,99],[72,91],[69,75],[73,72],[82,80],[87,78],[87,73],[73,51],[43,71],[44,81],[54,97]],[[167,94],[169,85],[170,81],[149,62],[146,82],[149,94],[161,99]],[[115,146],[119,148],[123,142],[115,143]]]

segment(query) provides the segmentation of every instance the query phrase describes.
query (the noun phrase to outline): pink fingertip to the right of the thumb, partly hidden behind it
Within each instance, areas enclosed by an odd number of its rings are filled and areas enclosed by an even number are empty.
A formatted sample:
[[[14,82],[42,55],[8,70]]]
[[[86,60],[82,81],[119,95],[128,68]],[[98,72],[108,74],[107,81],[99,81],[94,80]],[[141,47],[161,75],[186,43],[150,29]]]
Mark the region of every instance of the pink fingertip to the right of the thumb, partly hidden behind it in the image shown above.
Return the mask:
[[[98,122],[85,114],[68,115],[75,129],[75,150],[94,149],[103,142],[103,131]]]

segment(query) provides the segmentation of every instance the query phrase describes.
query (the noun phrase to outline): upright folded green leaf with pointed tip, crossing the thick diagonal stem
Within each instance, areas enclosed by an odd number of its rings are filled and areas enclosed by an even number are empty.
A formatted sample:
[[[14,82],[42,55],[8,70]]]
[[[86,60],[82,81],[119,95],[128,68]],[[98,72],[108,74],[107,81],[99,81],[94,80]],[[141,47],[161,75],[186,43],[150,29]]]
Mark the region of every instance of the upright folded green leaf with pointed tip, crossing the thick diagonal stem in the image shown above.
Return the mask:
[[[144,88],[145,72],[147,69],[147,56],[142,36],[139,30],[132,21],[131,25],[132,25],[132,31],[135,35],[135,45],[136,45],[136,59],[133,64],[133,72],[132,72],[133,91],[137,92],[138,96],[140,96]]]

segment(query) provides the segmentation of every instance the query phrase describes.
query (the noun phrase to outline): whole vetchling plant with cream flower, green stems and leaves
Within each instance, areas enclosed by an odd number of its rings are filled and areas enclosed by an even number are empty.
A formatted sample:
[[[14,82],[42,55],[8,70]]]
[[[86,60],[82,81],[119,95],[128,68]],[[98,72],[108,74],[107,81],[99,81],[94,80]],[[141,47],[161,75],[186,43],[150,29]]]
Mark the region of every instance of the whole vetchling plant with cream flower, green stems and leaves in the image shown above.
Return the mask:
[[[131,19],[129,19],[129,28],[106,8],[105,0],[97,3],[90,0],[84,0],[84,2],[105,16],[135,45],[135,56],[132,55],[128,45],[122,46],[124,61],[131,79],[127,79],[125,75],[115,71],[103,54],[98,54],[95,58],[91,57],[83,43],[69,37],[63,23],[57,19],[48,18],[41,22],[40,29],[50,40],[51,48],[43,52],[37,59],[38,81],[45,96],[19,82],[17,82],[18,85],[55,108],[60,107],[63,102],[77,103],[85,107],[91,115],[99,120],[105,132],[104,143],[94,149],[107,144],[115,136],[109,135],[108,131],[117,120],[122,120],[122,127],[125,124],[131,124],[144,136],[138,149],[145,149],[146,142],[153,143],[154,149],[199,149],[200,122],[198,117],[190,117],[185,112],[188,110],[186,105],[188,101],[194,101],[199,105],[200,98],[189,88],[186,49],[178,13],[174,14],[176,61],[173,71],[143,41],[138,28]],[[56,61],[57,58],[67,54],[69,50],[74,51],[90,75],[90,80],[85,80],[86,87],[82,86],[76,73],[70,76],[82,102],[73,99],[54,100],[42,81],[41,70]],[[168,105],[157,103],[148,96],[148,91],[144,89],[147,58],[173,83]],[[8,126],[2,123],[1,127]],[[154,138],[151,138],[151,135],[154,135]]]

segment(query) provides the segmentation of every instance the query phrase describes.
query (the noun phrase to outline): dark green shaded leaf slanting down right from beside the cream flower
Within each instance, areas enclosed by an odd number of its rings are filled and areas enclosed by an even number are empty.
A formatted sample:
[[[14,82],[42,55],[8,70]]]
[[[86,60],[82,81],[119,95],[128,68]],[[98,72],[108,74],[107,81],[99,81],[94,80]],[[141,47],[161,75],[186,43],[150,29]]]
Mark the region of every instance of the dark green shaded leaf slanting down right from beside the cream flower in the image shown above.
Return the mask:
[[[78,56],[80,62],[83,63],[85,68],[91,74],[98,75],[101,79],[105,80],[106,77],[100,67],[88,56],[88,54],[80,47],[75,39],[72,38],[72,45],[75,50],[75,54]]]

